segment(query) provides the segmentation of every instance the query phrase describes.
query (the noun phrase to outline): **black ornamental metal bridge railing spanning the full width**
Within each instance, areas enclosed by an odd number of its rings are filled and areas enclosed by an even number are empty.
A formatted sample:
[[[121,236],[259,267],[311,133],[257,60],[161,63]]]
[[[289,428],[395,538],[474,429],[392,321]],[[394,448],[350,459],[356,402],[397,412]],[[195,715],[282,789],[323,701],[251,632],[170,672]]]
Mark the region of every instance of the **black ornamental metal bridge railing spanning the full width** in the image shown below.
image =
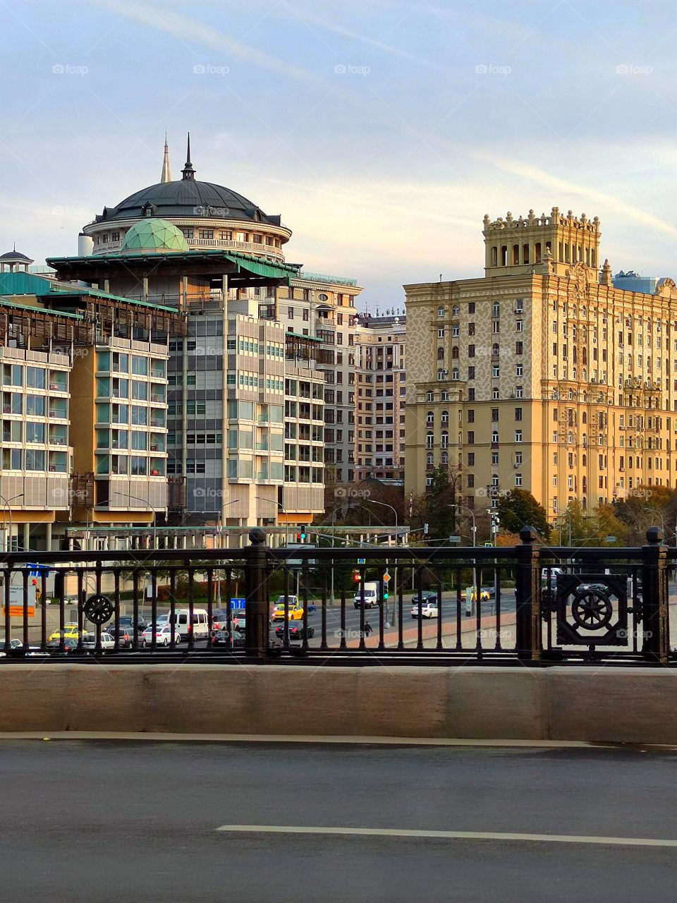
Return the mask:
[[[0,663],[672,665],[677,549],[269,548],[0,555]],[[677,592],[675,598],[677,605]]]

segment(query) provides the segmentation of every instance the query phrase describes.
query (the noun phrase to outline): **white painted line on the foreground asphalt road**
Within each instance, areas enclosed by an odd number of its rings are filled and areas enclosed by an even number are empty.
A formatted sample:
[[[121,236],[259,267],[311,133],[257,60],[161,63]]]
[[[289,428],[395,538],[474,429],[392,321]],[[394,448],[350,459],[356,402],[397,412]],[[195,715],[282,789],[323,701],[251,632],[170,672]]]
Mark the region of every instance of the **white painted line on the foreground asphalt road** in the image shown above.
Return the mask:
[[[407,831],[401,828],[306,827],[295,824],[222,824],[217,831],[262,834],[348,834],[359,837],[431,837],[441,840],[598,843],[612,846],[677,847],[677,840],[651,837],[586,837],[582,834],[522,834],[498,831]]]

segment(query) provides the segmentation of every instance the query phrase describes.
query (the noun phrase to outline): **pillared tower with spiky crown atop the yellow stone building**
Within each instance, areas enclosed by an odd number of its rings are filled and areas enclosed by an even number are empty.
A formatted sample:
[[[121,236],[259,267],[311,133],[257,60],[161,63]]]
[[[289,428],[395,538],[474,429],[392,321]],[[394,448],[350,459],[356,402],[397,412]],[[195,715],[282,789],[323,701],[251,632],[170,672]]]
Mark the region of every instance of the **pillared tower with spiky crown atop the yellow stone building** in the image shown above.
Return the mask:
[[[567,275],[572,265],[583,264],[594,271],[590,281],[598,281],[599,218],[585,213],[566,216],[559,207],[550,215],[529,215],[515,219],[508,211],[505,219],[490,219],[485,214],[485,273],[496,275]]]

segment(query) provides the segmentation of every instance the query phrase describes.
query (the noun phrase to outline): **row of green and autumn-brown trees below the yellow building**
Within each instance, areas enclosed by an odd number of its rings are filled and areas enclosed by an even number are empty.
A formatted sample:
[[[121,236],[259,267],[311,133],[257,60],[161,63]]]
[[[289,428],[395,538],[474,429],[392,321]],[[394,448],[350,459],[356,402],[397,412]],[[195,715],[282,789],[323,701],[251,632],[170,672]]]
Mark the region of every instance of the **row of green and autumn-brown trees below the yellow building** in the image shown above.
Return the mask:
[[[422,496],[406,497],[400,487],[378,480],[359,485],[327,487],[322,522],[337,526],[409,526],[426,538],[448,543],[450,535],[460,535],[463,545],[472,542],[472,517],[460,491],[460,474],[450,468],[431,471],[431,486]],[[490,498],[474,507],[477,542],[491,538]],[[579,500],[570,502],[554,524],[545,509],[526,489],[512,489],[497,499],[492,508],[499,518],[499,545],[515,545],[523,526],[533,526],[542,540],[551,545],[644,545],[649,526],[660,526],[665,541],[677,545],[677,489],[642,486],[626,498],[586,509]]]

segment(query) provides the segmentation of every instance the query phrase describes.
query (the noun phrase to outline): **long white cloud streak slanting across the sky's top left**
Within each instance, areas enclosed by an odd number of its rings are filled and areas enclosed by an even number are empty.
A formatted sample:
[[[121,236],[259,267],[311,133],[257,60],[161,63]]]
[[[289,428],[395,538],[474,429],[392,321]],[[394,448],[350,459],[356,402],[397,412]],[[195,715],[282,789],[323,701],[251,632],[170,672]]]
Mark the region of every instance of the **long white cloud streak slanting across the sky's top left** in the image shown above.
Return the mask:
[[[222,51],[240,60],[272,70],[278,75],[291,79],[306,81],[320,80],[313,72],[277,60],[263,51],[246,44],[231,35],[222,32],[213,25],[199,22],[188,15],[176,13],[161,5],[125,2],[125,0],[84,0],[90,6],[98,6],[108,12],[115,13],[135,23],[154,28],[156,31],[172,34],[189,50],[195,51],[190,44],[209,47]],[[273,12],[274,6],[271,7]],[[196,51],[197,52],[197,51]]]

